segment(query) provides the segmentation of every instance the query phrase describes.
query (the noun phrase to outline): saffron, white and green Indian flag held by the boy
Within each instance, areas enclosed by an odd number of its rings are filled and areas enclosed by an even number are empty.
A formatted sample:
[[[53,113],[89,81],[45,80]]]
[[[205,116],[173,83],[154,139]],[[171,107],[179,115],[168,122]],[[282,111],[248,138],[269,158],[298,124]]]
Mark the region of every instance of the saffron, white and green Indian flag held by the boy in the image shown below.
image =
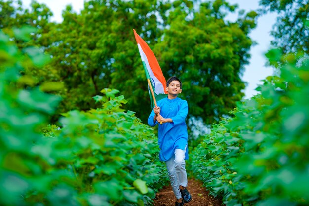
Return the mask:
[[[150,80],[154,91],[154,97],[158,101],[167,96],[167,91],[165,90],[165,78],[152,50],[149,48],[147,43],[135,32],[134,29],[133,31],[145,69],[146,78]],[[151,93],[150,99],[152,107],[154,107],[154,100]]]

